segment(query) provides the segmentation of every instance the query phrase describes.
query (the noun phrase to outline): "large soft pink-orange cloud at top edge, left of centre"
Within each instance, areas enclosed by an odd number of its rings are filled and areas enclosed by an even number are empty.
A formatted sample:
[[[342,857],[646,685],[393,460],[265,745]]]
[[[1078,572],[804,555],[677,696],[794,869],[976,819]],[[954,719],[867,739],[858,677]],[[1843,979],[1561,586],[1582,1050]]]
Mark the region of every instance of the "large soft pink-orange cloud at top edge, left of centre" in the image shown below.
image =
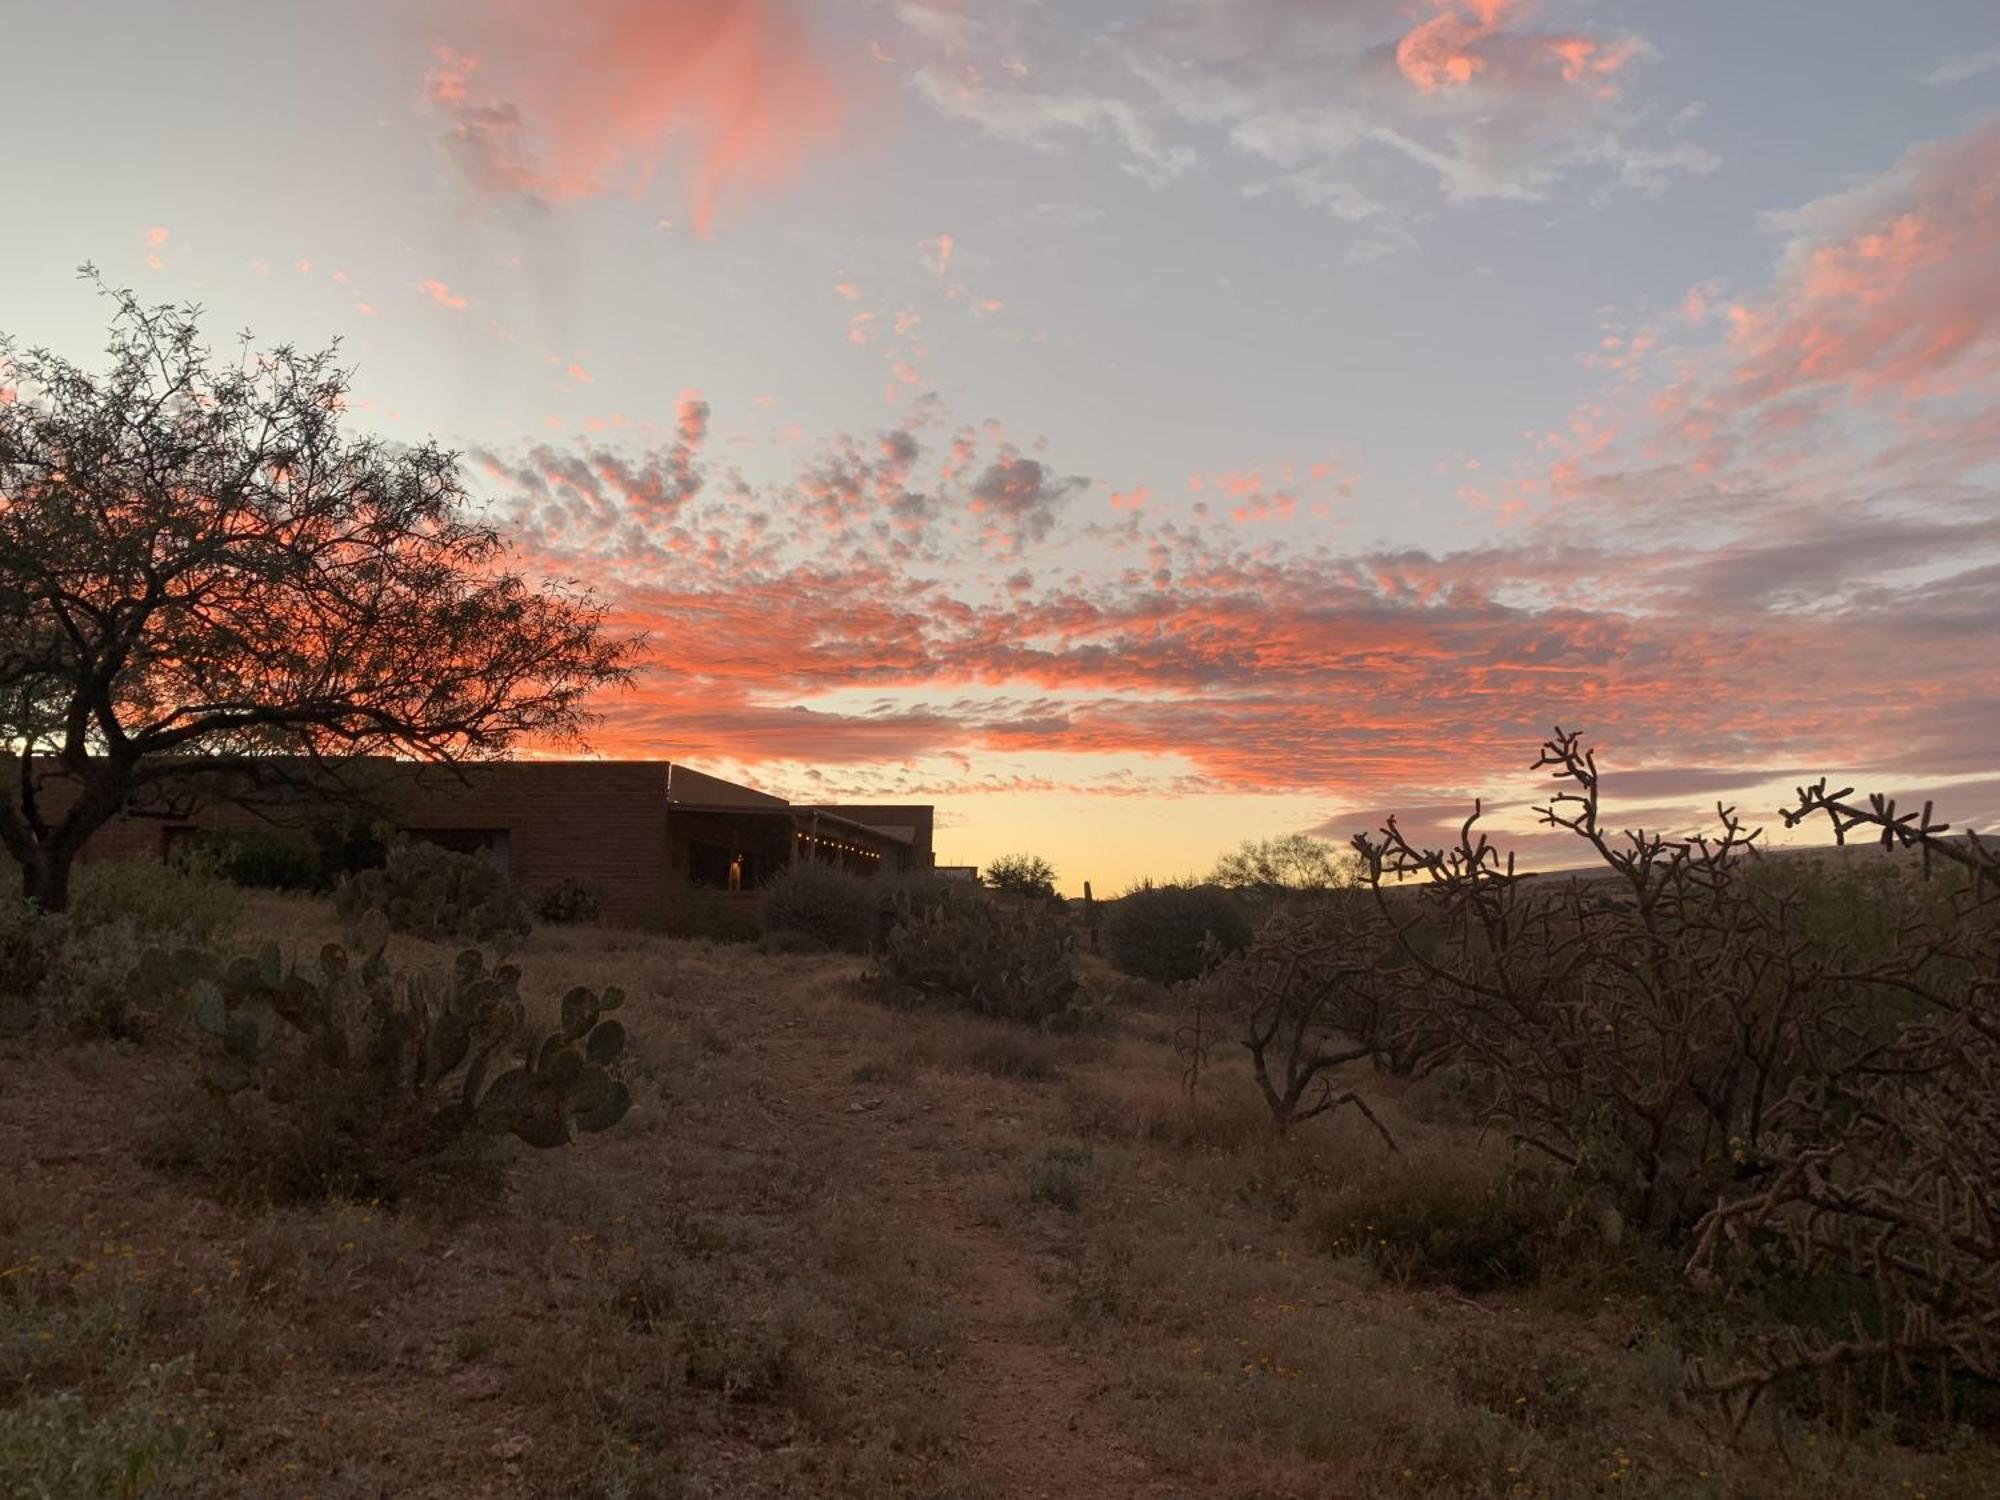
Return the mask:
[[[468,18],[482,58],[436,48],[424,94],[476,188],[540,202],[638,194],[684,166],[696,234],[730,196],[790,178],[840,122],[840,98],[790,0],[572,0]]]

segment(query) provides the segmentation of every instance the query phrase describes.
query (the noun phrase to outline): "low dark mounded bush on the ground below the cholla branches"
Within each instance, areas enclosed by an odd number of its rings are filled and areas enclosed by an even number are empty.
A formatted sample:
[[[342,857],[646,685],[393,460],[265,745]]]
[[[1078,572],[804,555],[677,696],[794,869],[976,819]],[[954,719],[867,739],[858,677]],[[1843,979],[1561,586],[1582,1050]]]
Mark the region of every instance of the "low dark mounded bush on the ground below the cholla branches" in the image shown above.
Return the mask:
[[[1470,1154],[1370,1166],[1304,1218],[1322,1250],[1360,1256],[1382,1280],[1460,1292],[1534,1282],[1596,1232],[1556,1174]]]

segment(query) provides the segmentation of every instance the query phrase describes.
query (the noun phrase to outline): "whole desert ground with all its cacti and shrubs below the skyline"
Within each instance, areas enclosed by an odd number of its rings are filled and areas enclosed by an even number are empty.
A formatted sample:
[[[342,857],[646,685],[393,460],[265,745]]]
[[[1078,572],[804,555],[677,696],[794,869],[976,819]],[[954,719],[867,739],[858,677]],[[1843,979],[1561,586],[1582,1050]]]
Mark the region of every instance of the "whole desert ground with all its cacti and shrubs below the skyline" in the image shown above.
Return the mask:
[[[1602,874],[1390,822],[1240,946],[1170,908],[1182,980],[942,882],[468,946],[490,886],[84,866],[0,930],[8,1482],[1990,1494],[1992,856],[1544,768]]]

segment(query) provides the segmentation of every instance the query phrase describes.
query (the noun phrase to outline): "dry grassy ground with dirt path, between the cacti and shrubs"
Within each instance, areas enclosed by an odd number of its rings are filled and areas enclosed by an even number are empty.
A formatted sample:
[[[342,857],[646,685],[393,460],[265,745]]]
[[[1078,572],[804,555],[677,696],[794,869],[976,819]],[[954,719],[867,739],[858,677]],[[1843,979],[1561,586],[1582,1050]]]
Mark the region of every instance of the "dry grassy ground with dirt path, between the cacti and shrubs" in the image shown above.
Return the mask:
[[[1340,1118],[1272,1144],[1230,1068],[1192,1108],[1142,1008],[1042,1038],[582,928],[520,962],[626,986],[638,1106],[508,1142],[484,1202],[220,1202],[146,1164],[172,1036],[0,1052],[0,1496],[2000,1492],[1970,1432],[1730,1442],[1632,1266],[1468,1298],[1334,1246],[1354,1182],[1492,1170],[1440,1100],[1370,1084],[1384,1166]]]

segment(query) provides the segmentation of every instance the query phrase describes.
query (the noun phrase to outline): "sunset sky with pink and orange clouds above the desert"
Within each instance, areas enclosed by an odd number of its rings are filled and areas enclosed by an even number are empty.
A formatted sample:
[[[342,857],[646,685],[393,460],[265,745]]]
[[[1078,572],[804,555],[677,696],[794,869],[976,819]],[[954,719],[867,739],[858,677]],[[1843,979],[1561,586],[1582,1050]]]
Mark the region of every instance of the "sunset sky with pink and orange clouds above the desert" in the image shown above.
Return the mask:
[[[1474,796],[2000,822],[1990,0],[0,0],[0,328],[340,340],[590,748],[1100,894]],[[1776,832],[1776,828],[1774,828]]]

